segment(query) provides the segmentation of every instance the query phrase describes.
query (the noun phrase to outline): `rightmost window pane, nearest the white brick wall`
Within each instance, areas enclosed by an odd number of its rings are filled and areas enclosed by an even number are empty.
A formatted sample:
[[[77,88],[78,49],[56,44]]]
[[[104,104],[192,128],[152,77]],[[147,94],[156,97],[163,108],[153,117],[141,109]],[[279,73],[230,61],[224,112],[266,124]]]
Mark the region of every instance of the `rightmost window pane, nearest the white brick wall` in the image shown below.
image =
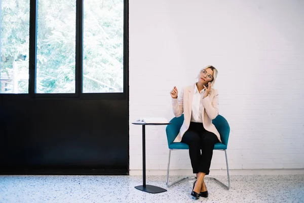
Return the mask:
[[[123,92],[124,2],[84,1],[83,92]]]

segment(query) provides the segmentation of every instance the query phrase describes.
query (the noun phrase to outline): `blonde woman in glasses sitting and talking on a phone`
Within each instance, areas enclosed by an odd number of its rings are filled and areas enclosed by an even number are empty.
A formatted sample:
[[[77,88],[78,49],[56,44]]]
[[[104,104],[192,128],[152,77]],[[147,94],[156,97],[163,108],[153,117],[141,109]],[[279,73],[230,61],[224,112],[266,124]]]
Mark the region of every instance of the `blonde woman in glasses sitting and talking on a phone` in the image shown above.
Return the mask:
[[[206,66],[200,71],[198,82],[185,87],[179,98],[176,87],[170,92],[174,115],[179,117],[184,114],[183,124],[174,142],[189,146],[193,173],[197,177],[191,193],[195,199],[208,197],[204,177],[209,174],[214,144],[221,142],[212,124],[212,119],[218,115],[218,93],[212,88],[216,76],[215,67]]]

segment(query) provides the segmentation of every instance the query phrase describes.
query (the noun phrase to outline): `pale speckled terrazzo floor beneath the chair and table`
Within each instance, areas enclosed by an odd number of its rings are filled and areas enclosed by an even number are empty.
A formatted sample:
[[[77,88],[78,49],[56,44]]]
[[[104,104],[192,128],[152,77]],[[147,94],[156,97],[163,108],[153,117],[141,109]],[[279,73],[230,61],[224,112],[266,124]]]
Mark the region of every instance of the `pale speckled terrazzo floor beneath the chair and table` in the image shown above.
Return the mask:
[[[165,182],[147,176],[147,184],[168,189],[151,194],[134,188],[141,176],[0,176],[0,202],[304,202],[304,175],[231,176],[230,190],[206,179],[209,197],[198,200],[190,195],[193,180],[170,188]]]

